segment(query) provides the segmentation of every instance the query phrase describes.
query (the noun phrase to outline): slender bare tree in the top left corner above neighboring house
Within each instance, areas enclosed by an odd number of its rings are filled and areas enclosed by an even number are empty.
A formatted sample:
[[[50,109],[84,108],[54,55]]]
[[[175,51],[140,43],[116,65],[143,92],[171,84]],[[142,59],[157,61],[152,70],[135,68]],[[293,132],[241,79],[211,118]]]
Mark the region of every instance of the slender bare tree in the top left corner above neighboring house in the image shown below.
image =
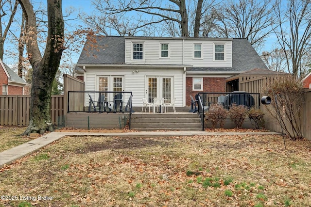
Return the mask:
[[[9,29],[11,27],[11,24],[14,20],[17,6],[18,6],[17,0],[1,0],[0,2],[0,7],[1,7],[1,10],[0,10],[0,59],[3,59],[4,42],[9,32]],[[3,20],[3,17],[8,14],[10,14],[9,19]],[[5,22],[7,22],[7,24],[3,31],[2,25],[5,25]]]

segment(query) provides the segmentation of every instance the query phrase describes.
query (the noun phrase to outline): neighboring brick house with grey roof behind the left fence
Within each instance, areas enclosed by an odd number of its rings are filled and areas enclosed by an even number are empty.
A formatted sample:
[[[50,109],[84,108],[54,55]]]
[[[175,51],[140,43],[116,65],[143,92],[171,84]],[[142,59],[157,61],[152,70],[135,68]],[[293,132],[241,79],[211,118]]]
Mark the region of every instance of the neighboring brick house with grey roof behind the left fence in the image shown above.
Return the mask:
[[[24,95],[27,83],[0,59],[0,95]]]

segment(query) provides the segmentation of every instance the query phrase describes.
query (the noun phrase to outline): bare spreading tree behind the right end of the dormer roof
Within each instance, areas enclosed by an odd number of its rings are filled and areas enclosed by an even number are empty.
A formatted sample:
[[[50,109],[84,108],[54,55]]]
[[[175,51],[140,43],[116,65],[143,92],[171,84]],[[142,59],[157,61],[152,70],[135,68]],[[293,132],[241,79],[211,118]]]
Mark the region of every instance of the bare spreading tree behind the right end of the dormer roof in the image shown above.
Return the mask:
[[[273,33],[273,0],[231,0],[219,6],[214,24],[217,36],[246,38],[258,49]]]

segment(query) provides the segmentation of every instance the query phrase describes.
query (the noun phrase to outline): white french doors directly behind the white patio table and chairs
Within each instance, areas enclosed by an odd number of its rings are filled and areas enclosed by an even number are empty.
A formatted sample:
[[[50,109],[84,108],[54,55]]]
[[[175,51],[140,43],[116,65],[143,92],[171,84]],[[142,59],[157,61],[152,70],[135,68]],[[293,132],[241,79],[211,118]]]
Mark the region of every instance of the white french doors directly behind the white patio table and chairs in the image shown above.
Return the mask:
[[[155,98],[171,102],[173,98],[173,76],[146,76],[146,98],[153,103]]]

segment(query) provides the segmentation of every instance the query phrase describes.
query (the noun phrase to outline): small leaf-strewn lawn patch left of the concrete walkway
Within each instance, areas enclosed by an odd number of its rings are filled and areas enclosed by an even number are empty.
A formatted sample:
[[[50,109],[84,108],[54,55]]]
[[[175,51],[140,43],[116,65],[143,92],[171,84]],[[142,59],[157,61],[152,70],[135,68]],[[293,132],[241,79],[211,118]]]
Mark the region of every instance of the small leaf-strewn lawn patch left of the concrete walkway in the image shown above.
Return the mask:
[[[26,127],[1,127],[0,126],[0,152],[28,142],[32,138],[17,136],[25,131]]]

